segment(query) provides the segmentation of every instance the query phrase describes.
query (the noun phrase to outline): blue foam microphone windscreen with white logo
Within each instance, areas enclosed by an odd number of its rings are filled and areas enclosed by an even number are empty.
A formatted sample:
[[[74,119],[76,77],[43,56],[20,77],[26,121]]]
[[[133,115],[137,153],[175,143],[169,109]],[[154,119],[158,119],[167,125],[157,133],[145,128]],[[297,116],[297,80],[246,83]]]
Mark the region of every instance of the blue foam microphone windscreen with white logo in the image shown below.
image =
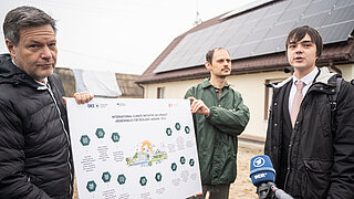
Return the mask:
[[[275,180],[275,170],[269,156],[260,155],[251,159],[250,165],[250,178],[254,186],[259,186],[261,182]]]

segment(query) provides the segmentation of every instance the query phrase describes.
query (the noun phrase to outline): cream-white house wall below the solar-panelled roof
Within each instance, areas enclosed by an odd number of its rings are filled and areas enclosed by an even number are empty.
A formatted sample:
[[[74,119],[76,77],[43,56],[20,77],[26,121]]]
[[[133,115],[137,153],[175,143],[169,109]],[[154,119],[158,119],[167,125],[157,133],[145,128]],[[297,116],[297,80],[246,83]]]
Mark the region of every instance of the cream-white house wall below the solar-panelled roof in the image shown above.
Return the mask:
[[[342,71],[344,80],[354,78],[354,64],[337,65]],[[287,78],[290,74],[283,72],[253,73],[243,75],[231,75],[228,82],[233,88],[241,93],[243,103],[250,108],[251,118],[242,135],[256,136],[261,139],[266,138],[267,119],[264,119],[264,97],[266,80],[279,81]],[[187,90],[200,83],[204,78],[178,81],[158,84],[145,84],[145,98],[156,98],[157,87],[165,87],[165,98],[184,98]],[[269,92],[271,96],[272,93]]]

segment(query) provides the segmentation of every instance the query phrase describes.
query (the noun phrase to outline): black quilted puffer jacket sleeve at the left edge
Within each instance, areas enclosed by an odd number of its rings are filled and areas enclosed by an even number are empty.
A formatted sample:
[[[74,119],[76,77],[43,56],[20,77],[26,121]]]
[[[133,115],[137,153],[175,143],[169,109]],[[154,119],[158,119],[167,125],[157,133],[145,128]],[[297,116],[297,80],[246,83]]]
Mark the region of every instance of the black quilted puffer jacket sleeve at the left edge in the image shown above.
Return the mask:
[[[49,199],[25,175],[21,118],[0,100],[0,198]]]

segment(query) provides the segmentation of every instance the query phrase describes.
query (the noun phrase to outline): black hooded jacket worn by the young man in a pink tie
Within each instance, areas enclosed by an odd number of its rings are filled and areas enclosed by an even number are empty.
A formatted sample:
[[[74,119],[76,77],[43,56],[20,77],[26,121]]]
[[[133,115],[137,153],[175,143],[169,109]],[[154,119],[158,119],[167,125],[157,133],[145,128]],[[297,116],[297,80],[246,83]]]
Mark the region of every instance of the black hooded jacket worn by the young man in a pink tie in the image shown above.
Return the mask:
[[[320,70],[293,129],[288,109],[292,77],[273,85],[264,153],[280,175],[275,184],[294,198],[354,198],[354,86],[341,83],[332,132],[329,95],[335,93],[336,77]],[[281,175],[285,180],[279,184]]]

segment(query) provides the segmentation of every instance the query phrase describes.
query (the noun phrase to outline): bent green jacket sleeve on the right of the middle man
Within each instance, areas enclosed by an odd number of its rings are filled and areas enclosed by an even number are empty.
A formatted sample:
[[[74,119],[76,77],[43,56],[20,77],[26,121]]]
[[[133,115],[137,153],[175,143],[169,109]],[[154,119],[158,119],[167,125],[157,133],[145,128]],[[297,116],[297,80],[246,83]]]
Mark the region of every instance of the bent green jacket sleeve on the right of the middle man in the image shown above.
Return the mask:
[[[250,119],[250,112],[243,104],[241,94],[235,92],[232,109],[212,106],[210,115],[206,119],[220,132],[238,136],[244,130]]]

